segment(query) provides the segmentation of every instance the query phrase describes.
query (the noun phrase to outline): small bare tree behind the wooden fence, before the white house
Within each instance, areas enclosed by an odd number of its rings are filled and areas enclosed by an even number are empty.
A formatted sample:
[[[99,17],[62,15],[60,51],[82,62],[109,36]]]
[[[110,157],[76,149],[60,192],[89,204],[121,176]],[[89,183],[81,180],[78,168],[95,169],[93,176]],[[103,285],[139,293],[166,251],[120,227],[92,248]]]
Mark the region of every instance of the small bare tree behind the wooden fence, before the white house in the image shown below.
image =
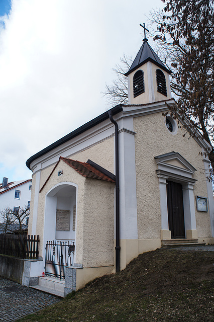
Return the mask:
[[[17,210],[11,208],[5,208],[0,211],[0,228],[4,233],[19,230],[21,233],[23,230],[24,219],[29,216],[30,208],[25,206],[19,207]]]

